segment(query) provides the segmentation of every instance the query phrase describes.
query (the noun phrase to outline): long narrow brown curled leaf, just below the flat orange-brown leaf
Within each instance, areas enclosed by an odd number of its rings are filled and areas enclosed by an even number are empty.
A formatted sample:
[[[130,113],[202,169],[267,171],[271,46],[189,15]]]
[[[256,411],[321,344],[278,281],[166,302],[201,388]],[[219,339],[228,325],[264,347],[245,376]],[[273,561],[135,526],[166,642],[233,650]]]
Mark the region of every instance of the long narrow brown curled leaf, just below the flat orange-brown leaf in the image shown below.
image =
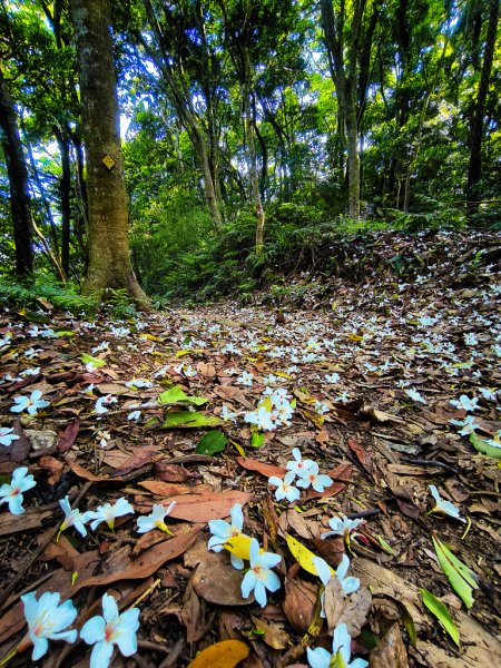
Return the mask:
[[[198,531],[190,531],[189,533],[181,533],[180,536],[165,540],[143,552],[138,559],[129,559],[125,564],[122,559],[117,560],[114,564],[114,558],[111,558],[107,572],[88,578],[85,582],[80,582],[80,587],[94,587],[109,584],[119,580],[148,578],[164,566],[164,563],[183,554],[195,542],[197,534]]]

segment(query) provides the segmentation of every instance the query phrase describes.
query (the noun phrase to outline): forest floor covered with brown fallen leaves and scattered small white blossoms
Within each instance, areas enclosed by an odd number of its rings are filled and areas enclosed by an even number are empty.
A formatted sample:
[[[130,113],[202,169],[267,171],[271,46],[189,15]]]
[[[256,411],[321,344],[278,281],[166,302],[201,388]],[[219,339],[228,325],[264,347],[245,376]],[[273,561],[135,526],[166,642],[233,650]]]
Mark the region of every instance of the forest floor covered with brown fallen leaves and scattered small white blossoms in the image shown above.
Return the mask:
[[[77,629],[105,592],[140,609],[138,652],[114,666],[186,667],[225,640],[194,668],[305,666],[343,621],[374,667],[501,665],[500,235],[377,238],[363,278],[295,276],[281,304],[0,315],[0,434],[19,436],[0,445],[1,482],[21,466],[36,481],[22,514],[3,488],[0,660],[27,632],[20,596],[52,591],[73,601]],[[268,415],[271,396],[287,410],[256,431],[245,415]],[[277,501],[268,478],[297,451],[331,481]],[[429,485],[459,519],[429,512]],[[58,539],[66,495],[82,512],[125,498],[135,514]],[[173,536],[138,533],[139,515],[173,501]],[[265,607],[243,596],[247,566],[207,549],[208,522],[236,503],[243,532],[282,558]],[[322,539],[340,515],[363,522],[350,541]],[[228,547],[248,557],[240,543]],[[360,589],[332,578],[323,620],[311,552],[336,568],[346,550]],[[51,642],[40,665],[87,666],[89,652]],[[10,665],[30,662],[20,649]]]

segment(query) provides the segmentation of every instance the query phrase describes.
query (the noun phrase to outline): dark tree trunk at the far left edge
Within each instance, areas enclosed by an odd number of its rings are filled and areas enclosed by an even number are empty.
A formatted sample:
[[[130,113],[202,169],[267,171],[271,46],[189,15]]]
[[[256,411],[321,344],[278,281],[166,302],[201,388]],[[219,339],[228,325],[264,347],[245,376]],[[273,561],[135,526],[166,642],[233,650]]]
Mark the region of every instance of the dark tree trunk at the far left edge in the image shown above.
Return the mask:
[[[0,63],[1,65],[1,63]],[[28,169],[22,150],[16,111],[0,67],[0,128],[1,144],[9,176],[10,210],[14,233],[16,274],[26,276],[33,271],[31,247],[31,208]]]

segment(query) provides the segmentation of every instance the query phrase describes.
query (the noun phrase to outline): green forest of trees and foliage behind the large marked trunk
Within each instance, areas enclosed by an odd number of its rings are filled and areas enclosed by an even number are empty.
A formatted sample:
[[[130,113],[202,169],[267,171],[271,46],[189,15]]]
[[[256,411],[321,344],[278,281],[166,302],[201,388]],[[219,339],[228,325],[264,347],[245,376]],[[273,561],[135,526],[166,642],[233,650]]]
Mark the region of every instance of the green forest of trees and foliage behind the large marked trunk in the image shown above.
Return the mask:
[[[2,0],[0,23],[1,271],[79,285],[94,233],[75,16]],[[498,0],[111,1],[109,171],[145,291],[252,287],[326,229],[495,225],[498,23]]]

